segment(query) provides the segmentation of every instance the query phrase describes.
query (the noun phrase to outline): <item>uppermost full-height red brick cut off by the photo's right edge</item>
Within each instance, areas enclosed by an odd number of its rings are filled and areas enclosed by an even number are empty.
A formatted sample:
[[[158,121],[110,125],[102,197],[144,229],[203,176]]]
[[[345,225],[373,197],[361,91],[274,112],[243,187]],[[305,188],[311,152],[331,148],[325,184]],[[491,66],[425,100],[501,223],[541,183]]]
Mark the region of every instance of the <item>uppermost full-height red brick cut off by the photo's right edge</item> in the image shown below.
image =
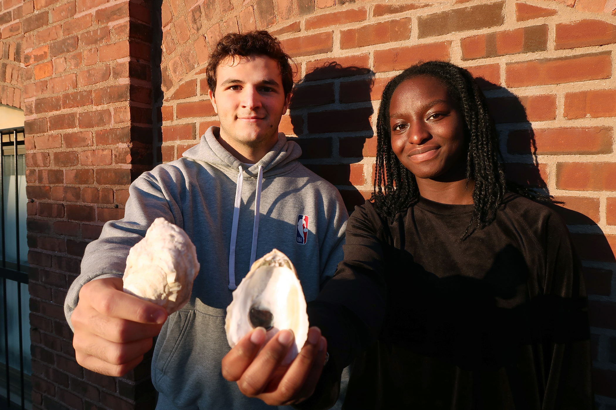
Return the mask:
[[[614,42],[616,42],[616,26],[602,20],[582,20],[556,25],[556,39],[554,39],[556,50],[606,45]]]

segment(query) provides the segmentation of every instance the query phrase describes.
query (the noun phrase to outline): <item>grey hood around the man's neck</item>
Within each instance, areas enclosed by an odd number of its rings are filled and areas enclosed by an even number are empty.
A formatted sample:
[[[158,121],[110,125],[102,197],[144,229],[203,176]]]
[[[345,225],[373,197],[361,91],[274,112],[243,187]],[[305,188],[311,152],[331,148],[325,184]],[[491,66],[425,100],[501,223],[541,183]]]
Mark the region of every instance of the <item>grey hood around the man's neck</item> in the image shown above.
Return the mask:
[[[184,151],[182,156],[207,162],[228,173],[237,173],[238,168],[241,166],[248,178],[255,178],[259,174],[259,165],[262,165],[264,176],[277,175],[278,173],[286,172],[287,167],[285,165],[288,165],[294,159],[298,159],[302,154],[302,149],[298,143],[287,141],[286,135],[279,132],[278,142],[272,149],[256,164],[246,167],[243,162],[232,156],[218,142],[220,130],[219,127],[209,127],[205,134],[201,136],[201,143]]]

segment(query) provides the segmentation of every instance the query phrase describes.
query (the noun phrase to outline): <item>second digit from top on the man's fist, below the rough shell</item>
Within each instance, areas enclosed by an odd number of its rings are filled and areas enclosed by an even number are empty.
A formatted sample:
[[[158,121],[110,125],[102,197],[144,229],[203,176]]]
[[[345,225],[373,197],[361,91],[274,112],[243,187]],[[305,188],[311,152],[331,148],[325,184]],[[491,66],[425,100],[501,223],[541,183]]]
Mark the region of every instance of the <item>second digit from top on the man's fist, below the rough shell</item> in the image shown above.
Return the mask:
[[[92,333],[110,342],[126,343],[149,339],[160,333],[163,325],[137,323],[101,315],[93,307],[78,306],[71,317],[75,333]]]

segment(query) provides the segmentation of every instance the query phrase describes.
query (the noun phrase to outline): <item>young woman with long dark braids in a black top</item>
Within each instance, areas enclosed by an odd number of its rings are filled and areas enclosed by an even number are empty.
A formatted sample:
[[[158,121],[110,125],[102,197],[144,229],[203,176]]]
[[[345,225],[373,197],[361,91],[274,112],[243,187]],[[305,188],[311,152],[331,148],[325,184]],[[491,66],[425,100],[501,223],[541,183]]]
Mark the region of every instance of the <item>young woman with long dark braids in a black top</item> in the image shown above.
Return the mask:
[[[471,74],[440,61],[403,71],[384,89],[377,133],[375,194],[309,304],[330,360],[299,407],[336,396],[353,362],[344,409],[593,408],[567,227],[508,188]]]

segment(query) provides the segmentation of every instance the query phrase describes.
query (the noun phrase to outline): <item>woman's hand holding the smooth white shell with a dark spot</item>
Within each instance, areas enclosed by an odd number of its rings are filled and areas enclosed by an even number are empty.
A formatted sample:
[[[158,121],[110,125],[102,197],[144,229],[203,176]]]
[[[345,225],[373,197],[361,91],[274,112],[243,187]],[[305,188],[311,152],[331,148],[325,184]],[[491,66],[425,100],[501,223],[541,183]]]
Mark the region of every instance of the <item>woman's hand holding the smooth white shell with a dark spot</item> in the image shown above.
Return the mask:
[[[308,330],[306,344],[289,365],[282,365],[282,361],[295,341],[292,331],[278,332],[259,352],[264,341],[264,328],[246,334],[222,359],[222,376],[237,382],[244,395],[260,398],[270,406],[300,403],[309,398],[321,376],[327,352],[327,341],[320,329]]]

